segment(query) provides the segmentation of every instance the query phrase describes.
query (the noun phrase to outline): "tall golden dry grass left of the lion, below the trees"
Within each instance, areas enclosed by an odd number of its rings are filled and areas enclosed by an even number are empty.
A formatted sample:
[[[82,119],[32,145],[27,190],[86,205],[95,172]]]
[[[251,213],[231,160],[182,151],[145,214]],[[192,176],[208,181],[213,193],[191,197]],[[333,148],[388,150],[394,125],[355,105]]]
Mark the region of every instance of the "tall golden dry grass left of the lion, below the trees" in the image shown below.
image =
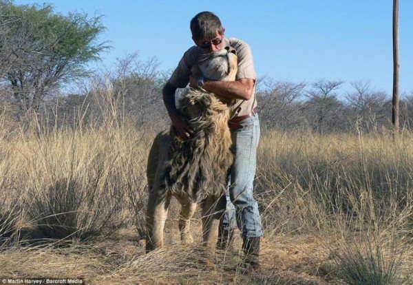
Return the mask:
[[[19,224],[28,239],[93,240],[136,220],[129,204],[146,200],[140,178],[149,142],[125,123],[112,89],[91,96],[106,99],[100,124],[83,120],[86,107],[64,125],[56,112],[28,113],[28,124],[1,137],[2,236]]]

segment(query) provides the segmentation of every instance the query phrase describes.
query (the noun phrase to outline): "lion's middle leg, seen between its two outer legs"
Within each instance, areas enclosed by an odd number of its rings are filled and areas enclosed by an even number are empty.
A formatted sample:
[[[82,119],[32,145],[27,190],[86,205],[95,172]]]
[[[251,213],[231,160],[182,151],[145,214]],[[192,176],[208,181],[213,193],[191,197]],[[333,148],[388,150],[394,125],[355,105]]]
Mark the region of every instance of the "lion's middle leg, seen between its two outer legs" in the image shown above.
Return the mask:
[[[196,210],[196,203],[188,197],[176,197],[181,204],[181,211],[179,217],[179,231],[181,235],[182,244],[191,244],[193,238],[190,232],[191,218]]]

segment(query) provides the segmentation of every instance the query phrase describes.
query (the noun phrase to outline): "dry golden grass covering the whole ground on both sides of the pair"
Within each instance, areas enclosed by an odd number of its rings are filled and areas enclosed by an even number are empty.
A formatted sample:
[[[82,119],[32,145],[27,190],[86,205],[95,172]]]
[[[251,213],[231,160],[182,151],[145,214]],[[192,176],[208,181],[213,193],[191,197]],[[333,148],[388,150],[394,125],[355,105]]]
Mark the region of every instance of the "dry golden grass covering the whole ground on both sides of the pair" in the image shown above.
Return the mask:
[[[110,102],[101,125],[83,125],[80,115],[76,128],[57,129],[34,116],[12,136],[0,125],[0,277],[83,277],[87,284],[412,282],[412,134],[394,143],[386,134],[263,131],[256,180],[262,268],[242,275],[238,236],[233,249],[207,253],[195,219],[195,244],[180,245],[176,203],[167,246],[144,253],[153,131],[130,127]]]

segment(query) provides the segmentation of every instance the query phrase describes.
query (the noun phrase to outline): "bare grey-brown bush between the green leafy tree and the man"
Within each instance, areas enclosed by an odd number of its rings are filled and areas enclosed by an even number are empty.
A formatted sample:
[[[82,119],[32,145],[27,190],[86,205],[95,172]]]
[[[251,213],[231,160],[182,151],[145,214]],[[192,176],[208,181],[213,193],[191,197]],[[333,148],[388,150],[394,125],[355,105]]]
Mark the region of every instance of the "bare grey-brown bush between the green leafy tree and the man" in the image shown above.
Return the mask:
[[[154,57],[142,61],[138,52],[125,54],[117,59],[114,70],[94,72],[82,89],[74,90],[72,96],[59,98],[52,106],[58,106],[56,113],[67,116],[69,121],[76,121],[80,110],[83,123],[122,125],[127,122],[145,131],[165,129],[170,121],[169,116],[165,116],[162,87],[170,73],[163,74],[158,67]]]

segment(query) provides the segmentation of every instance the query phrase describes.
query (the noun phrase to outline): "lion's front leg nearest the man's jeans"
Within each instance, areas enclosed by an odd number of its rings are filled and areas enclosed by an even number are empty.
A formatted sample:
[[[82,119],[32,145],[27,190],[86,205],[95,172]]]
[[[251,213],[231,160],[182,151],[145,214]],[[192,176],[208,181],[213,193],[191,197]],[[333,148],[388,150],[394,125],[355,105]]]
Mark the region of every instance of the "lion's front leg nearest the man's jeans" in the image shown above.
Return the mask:
[[[211,250],[215,250],[218,241],[218,228],[220,218],[225,211],[224,199],[207,197],[202,203],[202,236],[204,244]]]

